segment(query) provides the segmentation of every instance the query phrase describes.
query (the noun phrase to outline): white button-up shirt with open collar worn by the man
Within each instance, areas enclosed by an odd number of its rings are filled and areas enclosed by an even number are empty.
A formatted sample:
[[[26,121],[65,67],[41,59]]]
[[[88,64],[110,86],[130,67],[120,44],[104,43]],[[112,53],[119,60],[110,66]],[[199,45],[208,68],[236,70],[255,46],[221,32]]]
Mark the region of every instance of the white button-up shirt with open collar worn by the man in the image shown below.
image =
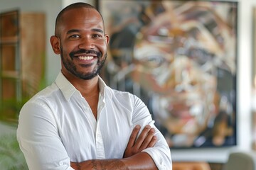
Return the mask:
[[[70,162],[122,159],[135,125],[156,129],[137,96],[110,89],[102,79],[99,84],[97,120],[80,91],[62,73],[23,106],[17,137],[29,169],[72,169]],[[171,169],[166,140],[157,129],[156,136],[156,145],[143,152],[159,169]]]

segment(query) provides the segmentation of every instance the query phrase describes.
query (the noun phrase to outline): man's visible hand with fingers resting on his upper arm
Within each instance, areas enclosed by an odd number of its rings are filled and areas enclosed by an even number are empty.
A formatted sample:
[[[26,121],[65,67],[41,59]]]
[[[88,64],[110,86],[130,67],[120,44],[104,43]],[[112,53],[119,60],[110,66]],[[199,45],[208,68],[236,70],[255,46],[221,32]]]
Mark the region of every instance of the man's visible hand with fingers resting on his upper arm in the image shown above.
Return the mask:
[[[143,149],[146,149],[148,147],[154,147],[154,145],[156,144],[157,138],[154,135],[154,128],[151,128],[150,125],[146,125],[144,130],[142,130],[142,133],[136,140],[139,130],[139,125],[136,125],[134,130],[132,130],[132,134],[129,138],[127,148],[124,151],[124,158],[131,157],[134,154],[142,152]]]

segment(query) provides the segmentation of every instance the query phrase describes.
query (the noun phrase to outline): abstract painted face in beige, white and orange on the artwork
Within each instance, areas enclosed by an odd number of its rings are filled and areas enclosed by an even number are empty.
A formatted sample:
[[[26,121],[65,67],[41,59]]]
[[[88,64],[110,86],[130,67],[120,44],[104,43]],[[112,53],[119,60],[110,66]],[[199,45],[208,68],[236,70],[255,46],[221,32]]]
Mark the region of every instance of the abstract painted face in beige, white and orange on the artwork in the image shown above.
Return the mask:
[[[137,33],[132,79],[153,92],[153,113],[161,125],[176,134],[177,143],[190,146],[218,113],[218,62],[225,62],[230,72],[234,68],[221,58],[225,32],[210,35],[199,21],[203,18],[189,18],[196,13],[179,14],[180,18],[169,11],[161,13]],[[211,29],[223,24],[212,13],[206,12],[204,19],[212,23]]]

